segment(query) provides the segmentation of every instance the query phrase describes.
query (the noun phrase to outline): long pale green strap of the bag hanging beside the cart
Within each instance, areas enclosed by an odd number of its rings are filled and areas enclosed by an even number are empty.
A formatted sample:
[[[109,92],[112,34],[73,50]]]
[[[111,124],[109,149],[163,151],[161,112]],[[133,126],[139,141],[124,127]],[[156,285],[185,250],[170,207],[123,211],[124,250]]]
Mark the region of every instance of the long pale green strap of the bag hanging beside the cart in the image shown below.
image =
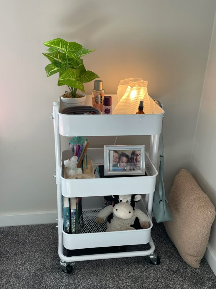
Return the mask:
[[[161,102],[157,99],[154,99],[154,101],[162,108]],[[158,186],[159,186],[159,195],[160,200],[164,202],[166,200],[165,195],[165,188],[164,188],[164,182],[163,182],[163,171],[164,171],[164,156],[163,156],[163,121],[161,125],[161,153],[160,153],[160,166],[158,170]]]

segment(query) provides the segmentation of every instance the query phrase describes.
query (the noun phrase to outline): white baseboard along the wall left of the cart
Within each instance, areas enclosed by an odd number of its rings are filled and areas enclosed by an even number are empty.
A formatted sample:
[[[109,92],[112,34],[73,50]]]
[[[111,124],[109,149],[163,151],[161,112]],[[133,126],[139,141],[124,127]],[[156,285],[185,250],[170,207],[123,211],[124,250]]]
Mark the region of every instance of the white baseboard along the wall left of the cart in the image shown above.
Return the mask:
[[[57,223],[57,211],[0,214],[0,227]]]

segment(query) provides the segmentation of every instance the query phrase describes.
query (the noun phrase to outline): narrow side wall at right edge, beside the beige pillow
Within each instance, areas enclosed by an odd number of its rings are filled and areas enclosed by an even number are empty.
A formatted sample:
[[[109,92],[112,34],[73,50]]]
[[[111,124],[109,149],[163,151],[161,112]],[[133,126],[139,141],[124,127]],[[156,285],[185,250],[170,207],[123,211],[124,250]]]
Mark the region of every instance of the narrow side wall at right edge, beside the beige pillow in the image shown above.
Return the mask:
[[[212,34],[203,94],[195,132],[190,172],[216,207],[216,22]],[[216,274],[216,220],[211,229],[209,250],[215,257]]]

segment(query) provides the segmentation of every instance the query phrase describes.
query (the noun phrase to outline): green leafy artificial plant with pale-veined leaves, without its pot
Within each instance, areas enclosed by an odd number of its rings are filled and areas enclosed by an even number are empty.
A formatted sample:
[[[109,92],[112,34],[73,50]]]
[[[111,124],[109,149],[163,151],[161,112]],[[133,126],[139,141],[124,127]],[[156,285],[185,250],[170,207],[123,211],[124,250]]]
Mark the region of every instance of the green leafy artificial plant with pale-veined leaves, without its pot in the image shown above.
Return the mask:
[[[83,65],[82,56],[93,50],[82,48],[76,42],[67,42],[61,38],[43,42],[48,46],[47,53],[43,53],[50,60],[45,67],[47,77],[59,72],[58,85],[67,85],[72,98],[76,98],[77,89],[85,92],[83,82],[90,82],[99,77]]]

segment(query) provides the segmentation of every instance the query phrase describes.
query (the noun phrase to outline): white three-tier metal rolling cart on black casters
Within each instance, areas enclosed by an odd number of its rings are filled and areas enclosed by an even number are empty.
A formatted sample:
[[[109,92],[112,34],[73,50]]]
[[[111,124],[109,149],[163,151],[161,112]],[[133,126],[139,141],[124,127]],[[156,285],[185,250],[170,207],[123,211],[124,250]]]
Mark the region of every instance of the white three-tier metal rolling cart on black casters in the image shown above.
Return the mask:
[[[117,104],[117,95],[112,95],[113,106]],[[85,105],[91,105],[92,96],[86,96]],[[144,198],[136,207],[148,214],[152,219],[153,195],[155,191],[158,144],[164,111],[150,98],[150,114],[144,115],[66,115],[60,113],[63,103],[60,98],[53,103],[53,119],[55,132],[55,178],[58,203],[58,255],[60,266],[67,273],[72,272],[75,261],[96,260],[119,257],[149,256],[152,264],[160,262],[155,254],[155,246],[151,238],[151,225],[148,229],[105,232],[106,225],[96,224],[96,216],[102,209],[105,195],[142,194]],[[69,159],[70,149],[61,151],[60,136],[137,136],[149,135],[150,149],[146,153],[145,176],[95,179],[65,179],[63,161]],[[103,164],[104,148],[87,150],[88,159],[94,164]],[[115,189],[114,189],[115,188]],[[136,191],[134,191],[136,188]],[[122,193],[121,193],[122,192]],[[84,228],[80,234],[67,234],[63,231],[62,195],[66,197],[82,197]],[[109,246],[138,245],[149,243],[149,250],[132,252],[100,253],[68,257],[64,248],[69,250],[84,248],[100,248]]]

